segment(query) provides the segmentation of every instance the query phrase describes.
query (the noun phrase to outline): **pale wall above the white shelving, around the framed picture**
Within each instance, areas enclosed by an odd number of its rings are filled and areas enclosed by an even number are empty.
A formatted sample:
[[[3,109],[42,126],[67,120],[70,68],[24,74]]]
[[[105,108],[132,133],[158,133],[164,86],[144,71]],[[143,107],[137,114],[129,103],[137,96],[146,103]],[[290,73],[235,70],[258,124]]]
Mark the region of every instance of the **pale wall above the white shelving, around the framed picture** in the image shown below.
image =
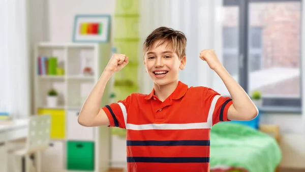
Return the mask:
[[[76,14],[113,14],[115,1],[48,1],[49,41],[71,42]],[[112,22],[113,23],[113,22]]]

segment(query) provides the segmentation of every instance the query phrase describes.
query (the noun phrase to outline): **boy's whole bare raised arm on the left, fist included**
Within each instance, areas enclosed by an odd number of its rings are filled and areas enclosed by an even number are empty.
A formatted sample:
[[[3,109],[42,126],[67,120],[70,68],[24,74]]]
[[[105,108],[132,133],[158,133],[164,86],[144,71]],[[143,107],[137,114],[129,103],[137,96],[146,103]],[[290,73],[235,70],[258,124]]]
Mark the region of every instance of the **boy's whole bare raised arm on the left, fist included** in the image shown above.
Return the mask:
[[[88,95],[80,110],[78,123],[82,126],[100,126],[109,125],[109,119],[105,111],[100,108],[100,103],[107,82],[111,76],[121,70],[128,63],[128,57],[123,54],[113,54],[109,60],[99,81],[94,86],[93,90]]]

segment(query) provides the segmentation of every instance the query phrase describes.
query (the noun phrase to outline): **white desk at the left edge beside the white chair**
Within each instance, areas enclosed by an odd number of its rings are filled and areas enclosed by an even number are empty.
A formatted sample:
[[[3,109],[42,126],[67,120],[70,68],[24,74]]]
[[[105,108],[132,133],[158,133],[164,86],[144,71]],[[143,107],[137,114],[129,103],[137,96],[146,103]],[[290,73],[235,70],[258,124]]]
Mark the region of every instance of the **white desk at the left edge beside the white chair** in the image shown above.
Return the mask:
[[[28,119],[0,121],[0,171],[7,171],[7,142],[27,136]]]

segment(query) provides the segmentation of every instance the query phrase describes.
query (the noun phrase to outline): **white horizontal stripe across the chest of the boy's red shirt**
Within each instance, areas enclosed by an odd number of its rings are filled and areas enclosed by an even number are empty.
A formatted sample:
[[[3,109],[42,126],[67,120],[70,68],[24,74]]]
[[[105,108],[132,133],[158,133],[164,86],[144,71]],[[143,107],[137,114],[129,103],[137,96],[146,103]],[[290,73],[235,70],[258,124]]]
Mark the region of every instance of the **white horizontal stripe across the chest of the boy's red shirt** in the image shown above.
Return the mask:
[[[126,129],[148,130],[148,129],[204,129],[210,128],[207,122],[186,124],[127,124]]]

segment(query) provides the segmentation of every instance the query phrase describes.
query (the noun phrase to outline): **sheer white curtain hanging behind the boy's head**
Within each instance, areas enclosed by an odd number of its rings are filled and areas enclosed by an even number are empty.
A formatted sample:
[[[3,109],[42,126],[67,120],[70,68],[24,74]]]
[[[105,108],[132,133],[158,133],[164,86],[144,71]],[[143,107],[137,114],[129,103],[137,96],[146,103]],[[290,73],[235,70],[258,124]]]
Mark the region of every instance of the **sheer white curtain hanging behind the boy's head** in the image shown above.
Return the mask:
[[[141,39],[155,28],[167,26],[185,33],[187,64],[179,79],[189,86],[216,87],[218,80],[208,65],[199,58],[203,49],[215,49],[222,60],[222,0],[143,0],[141,2]],[[141,52],[140,52],[141,53]],[[142,57],[142,54],[141,56]],[[151,91],[153,84],[143,75],[143,93]]]

